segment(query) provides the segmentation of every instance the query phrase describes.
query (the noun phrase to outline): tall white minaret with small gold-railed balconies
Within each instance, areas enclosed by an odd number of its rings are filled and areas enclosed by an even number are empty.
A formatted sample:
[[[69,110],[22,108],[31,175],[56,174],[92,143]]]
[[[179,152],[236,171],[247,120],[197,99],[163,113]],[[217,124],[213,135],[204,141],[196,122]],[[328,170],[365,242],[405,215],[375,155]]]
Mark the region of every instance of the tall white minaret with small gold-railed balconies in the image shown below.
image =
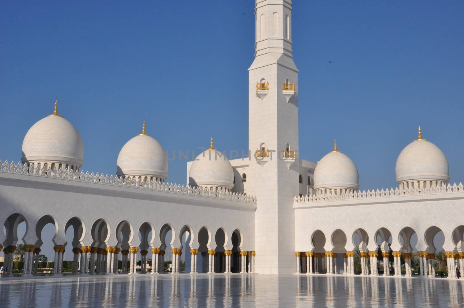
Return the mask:
[[[257,0],[255,6],[255,59],[248,69],[252,157],[247,193],[258,197],[258,273],[295,272],[293,198],[299,193],[298,70],[292,58],[291,10],[287,0]],[[270,157],[257,161],[257,148],[269,149]]]

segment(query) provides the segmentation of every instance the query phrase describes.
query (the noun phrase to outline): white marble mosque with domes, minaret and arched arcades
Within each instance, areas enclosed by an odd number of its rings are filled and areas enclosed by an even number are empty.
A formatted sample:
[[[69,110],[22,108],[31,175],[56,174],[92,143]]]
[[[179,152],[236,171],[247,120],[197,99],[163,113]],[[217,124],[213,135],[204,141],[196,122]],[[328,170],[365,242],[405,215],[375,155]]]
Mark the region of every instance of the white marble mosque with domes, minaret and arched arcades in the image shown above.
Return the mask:
[[[420,276],[434,277],[433,239],[440,231],[449,278],[456,267],[464,269],[463,185],[448,182],[445,155],[420,128],[398,156],[398,186],[391,189],[359,191],[357,168],[336,141],[317,162],[301,158],[291,12],[290,0],[255,4],[250,156],[228,160],[211,139],[187,163],[185,184],[166,182],[166,149],[148,135],[145,123],[122,147],[115,175],[84,171],[81,136],[55,102],[53,113],[24,137],[20,162],[0,161],[4,276],[12,275],[21,223],[26,223],[23,276],[38,275],[47,224],[55,227],[54,275],[62,274],[64,251],[72,250],[72,272],[79,275],[160,274],[167,251],[175,274],[185,251],[183,272],[190,274],[354,275],[356,254],[361,275],[379,275],[377,264],[393,256],[383,275],[411,276],[417,252]],[[69,228],[72,242],[65,236]],[[135,260],[142,260],[140,271]]]

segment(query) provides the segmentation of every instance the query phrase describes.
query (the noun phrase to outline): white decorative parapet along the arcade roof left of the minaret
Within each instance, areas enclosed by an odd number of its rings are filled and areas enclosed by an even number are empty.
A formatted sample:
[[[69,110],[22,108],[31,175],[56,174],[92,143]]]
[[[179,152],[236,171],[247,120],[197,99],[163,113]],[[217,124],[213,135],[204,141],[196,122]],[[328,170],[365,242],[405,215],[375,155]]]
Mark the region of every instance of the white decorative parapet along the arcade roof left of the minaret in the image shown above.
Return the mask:
[[[108,176],[106,174],[94,174],[93,172],[89,174],[89,172],[84,173],[81,171],[72,171],[67,169],[53,169],[51,167],[45,168],[44,167],[28,167],[27,164],[15,164],[14,161],[8,163],[8,160],[5,160],[4,163],[1,163],[0,160],[0,172],[4,173],[17,173],[17,174],[25,174],[30,176],[39,176],[45,178],[54,178],[54,179],[61,179],[61,180],[71,180],[71,181],[78,181],[78,182],[87,182],[87,183],[95,183],[100,185],[111,185],[111,186],[123,186],[123,187],[131,187],[131,188],[138,188],[138,189],[145,189],[145,190],[153,190],[159,192],[166,192],[166,193],[179,193],[184,195],[191,195],[191,196],[200,196],[200,197],[209,197],[209,198],[216,198],[216,199],[225,199],[225,200],[233,200],[233,201],[242,201],[242,202],[249,202],[249,203],[256,203],[255,196],[249,196],[243,193],[226,193],[226,192],[215,192],[204,190],[201,187],[192,187],[192,186],[184,186],[184,185],[176,185],[172,183],[161,183],[161,182],[145,182],[141,180],[130,180],[124,179],[123,177],[117,176]]]

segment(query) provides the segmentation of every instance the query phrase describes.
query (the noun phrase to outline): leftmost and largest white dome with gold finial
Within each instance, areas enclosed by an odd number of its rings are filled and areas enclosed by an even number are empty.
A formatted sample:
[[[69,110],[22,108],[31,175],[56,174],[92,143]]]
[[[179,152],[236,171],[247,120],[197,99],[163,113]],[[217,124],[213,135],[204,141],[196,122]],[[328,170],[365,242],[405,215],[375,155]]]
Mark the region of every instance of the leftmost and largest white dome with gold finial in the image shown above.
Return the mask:
[[[32,125],[24,137],[22,146],[23,163],[34,163],[37,167],[82,167],[84,144],[77,129],[55,111]],[[61,164],[61,165],[60,165]]]

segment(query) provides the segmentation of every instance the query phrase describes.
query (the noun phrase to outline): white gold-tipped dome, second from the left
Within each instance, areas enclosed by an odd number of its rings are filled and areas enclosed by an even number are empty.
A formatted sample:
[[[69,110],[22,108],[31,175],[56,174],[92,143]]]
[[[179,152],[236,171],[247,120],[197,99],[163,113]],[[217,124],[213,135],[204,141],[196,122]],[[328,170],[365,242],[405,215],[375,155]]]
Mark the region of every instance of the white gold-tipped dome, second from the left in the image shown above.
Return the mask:
[[[145,122],[142,134],[127,141],[119,152],[116,174],[134,180],[161,182],[168,177],[168,156],[158,141],[145,134]]]

